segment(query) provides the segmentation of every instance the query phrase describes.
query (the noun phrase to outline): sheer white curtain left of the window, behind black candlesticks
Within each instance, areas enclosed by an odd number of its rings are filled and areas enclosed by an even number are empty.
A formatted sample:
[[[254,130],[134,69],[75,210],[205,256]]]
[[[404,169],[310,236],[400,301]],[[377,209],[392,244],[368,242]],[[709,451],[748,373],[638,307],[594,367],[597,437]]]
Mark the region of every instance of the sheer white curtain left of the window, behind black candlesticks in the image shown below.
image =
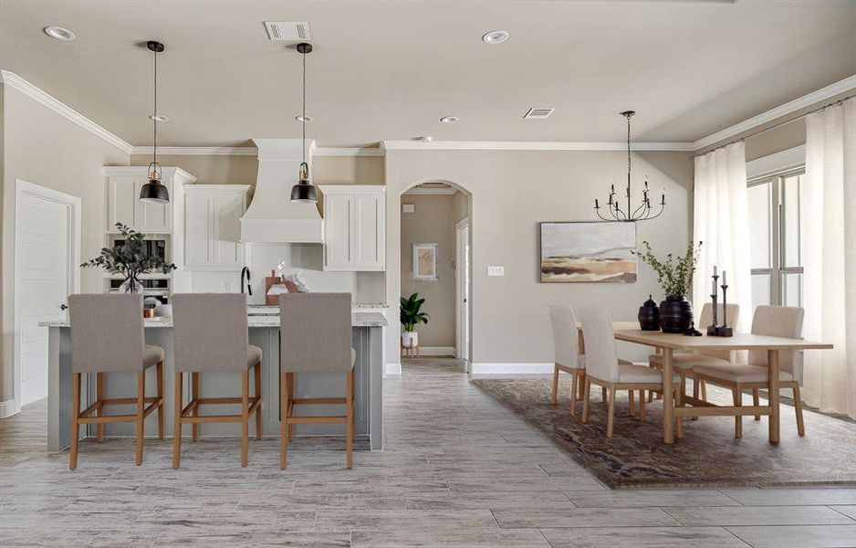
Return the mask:
[[[748,332],[752,318],[752,271],[743,142],[695,158],[694,195],[693,239],[703,243],[693,279],[693,308],[697,315],[702,305],[710,301],[710,277],[715,265],[720,275],[723,270],[728,274],[728,302],[740,305],[740,318],[729,318],[728,324]],[[718,293],[722,302],[722,290]],[[707,326],[696,327],[704,332]]]

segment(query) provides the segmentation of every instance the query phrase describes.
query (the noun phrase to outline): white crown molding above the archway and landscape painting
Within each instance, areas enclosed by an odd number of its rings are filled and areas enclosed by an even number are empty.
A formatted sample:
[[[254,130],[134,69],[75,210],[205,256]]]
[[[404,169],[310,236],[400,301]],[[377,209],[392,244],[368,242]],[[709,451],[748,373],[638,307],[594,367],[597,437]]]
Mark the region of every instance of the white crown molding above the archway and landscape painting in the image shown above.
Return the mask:
[[[381,141],[383,151],[626,151],[626,142]],[[632,151],[693,150],[692,142],[632,142]]]

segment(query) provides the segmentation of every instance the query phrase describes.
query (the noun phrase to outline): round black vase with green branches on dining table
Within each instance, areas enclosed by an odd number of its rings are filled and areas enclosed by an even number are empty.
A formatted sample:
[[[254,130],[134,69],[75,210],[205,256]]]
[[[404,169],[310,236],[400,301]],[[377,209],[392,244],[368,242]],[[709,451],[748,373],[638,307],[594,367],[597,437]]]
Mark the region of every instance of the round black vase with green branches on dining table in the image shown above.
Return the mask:
[[[642,242],[642,246],[645,247],[643,252],[632,253],[654,269],[665,294],[665,300],[660,303],[660,329],[665,333],[683,333],[693,321],[693,305],[685,297],[693,284],[695,263],[702,242],[698,242],[698,245],[690,242],[684,255],[675,258],[669,253],[665,260],[653,254],[648,242]]]

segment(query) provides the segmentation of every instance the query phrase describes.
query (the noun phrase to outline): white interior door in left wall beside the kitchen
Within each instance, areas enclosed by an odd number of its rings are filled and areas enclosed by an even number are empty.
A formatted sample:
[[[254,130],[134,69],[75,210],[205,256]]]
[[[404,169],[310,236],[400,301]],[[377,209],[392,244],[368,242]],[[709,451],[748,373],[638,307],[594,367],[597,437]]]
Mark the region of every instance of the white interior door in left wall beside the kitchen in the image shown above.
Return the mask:
[[[68,294],[76,285],[72,261],[79,251],[72,232],[73,223],[79,223],[77,198],[68,196],[68,204],[47,195],[19,188],[16,200],[17,406],[47,397],[47,328],[38,323],[65,318]]]

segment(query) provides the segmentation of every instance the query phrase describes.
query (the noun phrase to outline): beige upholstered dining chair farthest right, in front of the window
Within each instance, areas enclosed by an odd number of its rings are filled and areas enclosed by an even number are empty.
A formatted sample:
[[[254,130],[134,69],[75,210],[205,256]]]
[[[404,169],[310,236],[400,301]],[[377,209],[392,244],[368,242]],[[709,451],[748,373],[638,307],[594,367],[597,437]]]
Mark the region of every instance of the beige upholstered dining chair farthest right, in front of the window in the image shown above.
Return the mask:
[[[783,337],[802,338],[802,323],[805,311],[798,307],[758,306],[752,318],[752,333]],[[798,351],[779,351],[778,382],[781,388],[790,388],[794,395],[794,410],[797,414],[797,433],[806,435],[802,419],[802,400],[799,397],[799,379],[796,375]],[[758,390],[768,388],[769,364],[767,351],[749,351],[748,364],[705,364],[693,368],[696,381],[710,382],[731,388],[735,406],[743,405],[743,391],[752,390],[755,406],[758,406]],[[760,420],[760,416],[755,417]],[[735,437],[743,436],[743,417],[735,416]]]

